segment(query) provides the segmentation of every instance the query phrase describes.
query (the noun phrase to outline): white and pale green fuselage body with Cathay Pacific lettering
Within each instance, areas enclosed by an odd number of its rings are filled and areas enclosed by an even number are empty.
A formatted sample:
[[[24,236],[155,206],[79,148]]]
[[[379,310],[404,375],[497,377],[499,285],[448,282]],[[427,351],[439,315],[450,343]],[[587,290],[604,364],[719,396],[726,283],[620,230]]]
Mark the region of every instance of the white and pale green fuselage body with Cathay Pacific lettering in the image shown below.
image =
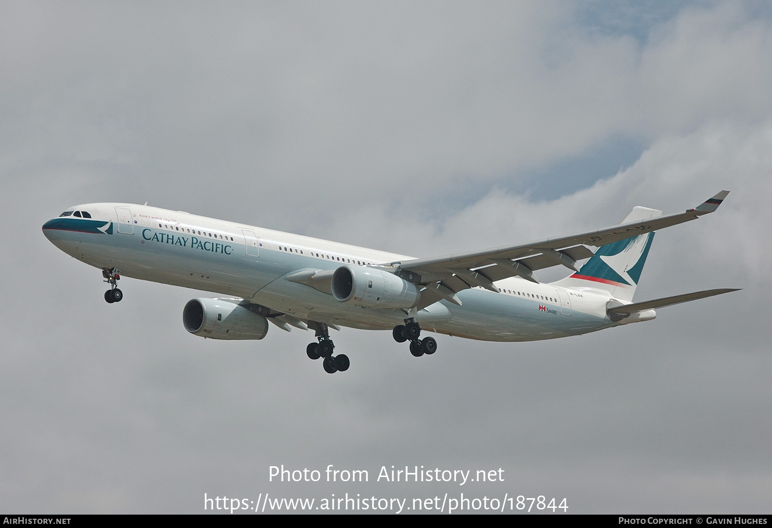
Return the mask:
[[[79,205],[91,218],[53,218],[43,226],[59,249],[121,276],[241,297],[300,320],[390,330],[406,310],[362,308],[284,277],[301,269],[388,265],[412,257],[145,205]],[[381,269],[388,269],[381,267]],[[462,306],[442,300],[419,310],[425,330],[491,341],[565,337],[617,326],[602,289],[570,289],[510,278],[500,293],[464,289]]]

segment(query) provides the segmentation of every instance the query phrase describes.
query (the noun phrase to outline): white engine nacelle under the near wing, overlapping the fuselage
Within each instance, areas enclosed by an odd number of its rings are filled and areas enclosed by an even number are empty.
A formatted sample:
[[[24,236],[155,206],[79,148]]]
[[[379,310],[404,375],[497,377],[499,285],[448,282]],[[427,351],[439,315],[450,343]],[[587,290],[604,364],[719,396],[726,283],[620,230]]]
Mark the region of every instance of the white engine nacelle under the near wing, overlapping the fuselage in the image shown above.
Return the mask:
[[[330,284],[335,300],[364,308],[410,308],[418,301],[413,283],[381,269],[340,266]]]

